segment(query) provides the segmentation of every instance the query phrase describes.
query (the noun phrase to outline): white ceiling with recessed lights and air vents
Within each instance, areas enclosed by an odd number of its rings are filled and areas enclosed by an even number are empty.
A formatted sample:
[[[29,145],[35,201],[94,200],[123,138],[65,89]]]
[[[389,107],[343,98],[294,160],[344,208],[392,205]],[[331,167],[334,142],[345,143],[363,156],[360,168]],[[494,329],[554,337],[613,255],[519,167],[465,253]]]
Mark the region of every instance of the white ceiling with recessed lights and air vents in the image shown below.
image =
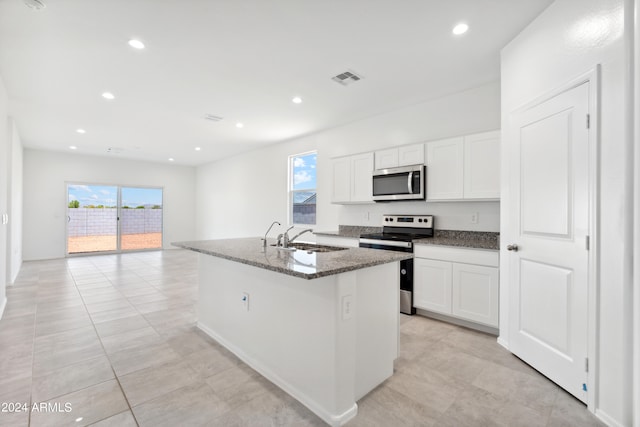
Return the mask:
[[[0,0],[0,76],[23,144],[184,165],[497,81],[500,49],[552,3],[42,1]],[[454,36],[460,21],[470,30]],[[346,70],[363,80],[331,80]]]

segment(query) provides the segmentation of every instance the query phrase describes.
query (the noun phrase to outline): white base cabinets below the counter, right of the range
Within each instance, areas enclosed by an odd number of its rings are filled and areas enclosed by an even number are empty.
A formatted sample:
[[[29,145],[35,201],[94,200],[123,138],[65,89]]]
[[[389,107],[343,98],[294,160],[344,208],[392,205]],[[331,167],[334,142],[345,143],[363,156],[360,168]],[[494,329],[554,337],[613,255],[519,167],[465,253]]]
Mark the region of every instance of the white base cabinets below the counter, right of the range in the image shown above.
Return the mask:
[[[498,327],[498,251],[416,245],[414,307]]]

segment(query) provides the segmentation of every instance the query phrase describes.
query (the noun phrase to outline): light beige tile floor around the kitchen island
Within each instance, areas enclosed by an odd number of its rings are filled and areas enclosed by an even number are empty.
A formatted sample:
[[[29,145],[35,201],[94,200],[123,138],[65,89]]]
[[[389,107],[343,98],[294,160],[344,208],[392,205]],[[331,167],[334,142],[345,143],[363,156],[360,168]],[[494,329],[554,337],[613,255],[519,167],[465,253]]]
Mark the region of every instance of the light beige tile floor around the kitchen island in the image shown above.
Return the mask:
[[[25,262],[0,320],[0,402],[37,410],[0,425],[324,425],[195,328],[196,259]],[[350,426],[600,425],[493,336],[418,316],[401,332],[395,374]]]

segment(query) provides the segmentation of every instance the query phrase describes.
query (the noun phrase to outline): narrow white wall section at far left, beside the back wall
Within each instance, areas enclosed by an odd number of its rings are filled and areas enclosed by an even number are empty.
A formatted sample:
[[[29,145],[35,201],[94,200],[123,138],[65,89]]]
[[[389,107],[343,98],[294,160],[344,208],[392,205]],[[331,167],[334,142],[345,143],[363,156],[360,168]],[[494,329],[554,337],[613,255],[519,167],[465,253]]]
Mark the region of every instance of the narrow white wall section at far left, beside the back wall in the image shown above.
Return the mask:
[[[23,149],[15,123],[11,121],[11,185],[9,196],[9,283],[14,283],[22,266],[22,169]]]

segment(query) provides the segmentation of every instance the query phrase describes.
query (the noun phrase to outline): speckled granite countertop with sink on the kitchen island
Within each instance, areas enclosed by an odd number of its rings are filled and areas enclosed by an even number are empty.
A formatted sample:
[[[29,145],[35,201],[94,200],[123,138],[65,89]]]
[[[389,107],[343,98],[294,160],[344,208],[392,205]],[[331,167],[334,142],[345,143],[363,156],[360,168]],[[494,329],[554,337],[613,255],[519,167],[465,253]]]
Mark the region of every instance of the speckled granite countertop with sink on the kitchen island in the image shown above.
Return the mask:
[[[275,240],[268,239],[267,247],[263,248],[261,238],[249,237],[196,240],[171,244],[205,255],[224,258],[303,279],[317,279],[413,257],[412,253],[365,248],[348,248],[333,252],[309,253],[305,250],[290,252],[276,249],[271,246],[273,243],[275,243]]]

